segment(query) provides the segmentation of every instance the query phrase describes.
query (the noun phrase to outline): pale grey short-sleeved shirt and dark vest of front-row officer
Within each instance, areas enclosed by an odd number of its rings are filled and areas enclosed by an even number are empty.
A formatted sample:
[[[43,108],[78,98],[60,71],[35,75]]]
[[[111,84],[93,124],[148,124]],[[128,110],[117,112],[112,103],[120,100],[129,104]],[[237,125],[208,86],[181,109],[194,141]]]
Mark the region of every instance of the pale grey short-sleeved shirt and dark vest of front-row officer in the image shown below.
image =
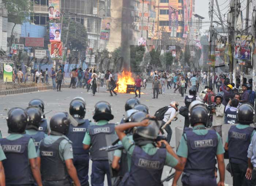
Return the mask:
[[[67,159],[73,159],[72,142],[67,136],[55,132],[44,138],[37,151],[41,158],[43,185],[71,186],[65,165]]]

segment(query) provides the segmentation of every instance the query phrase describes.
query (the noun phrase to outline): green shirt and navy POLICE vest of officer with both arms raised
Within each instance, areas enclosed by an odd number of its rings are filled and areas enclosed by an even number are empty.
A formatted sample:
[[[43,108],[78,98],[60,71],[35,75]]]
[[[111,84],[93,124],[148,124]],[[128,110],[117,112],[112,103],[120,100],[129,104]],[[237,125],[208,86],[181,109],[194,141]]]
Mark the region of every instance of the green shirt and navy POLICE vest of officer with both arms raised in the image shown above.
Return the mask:
[[[131,157],[131,162],[128,162],[130,171],[122,180],[124,186],[160,186],[163,166],[175,167],[178,164],[177,159],[166,149],[158,149],[152,143],[140,147],[132,145],[133,141],[128,136],[125,136],[121,142]]]

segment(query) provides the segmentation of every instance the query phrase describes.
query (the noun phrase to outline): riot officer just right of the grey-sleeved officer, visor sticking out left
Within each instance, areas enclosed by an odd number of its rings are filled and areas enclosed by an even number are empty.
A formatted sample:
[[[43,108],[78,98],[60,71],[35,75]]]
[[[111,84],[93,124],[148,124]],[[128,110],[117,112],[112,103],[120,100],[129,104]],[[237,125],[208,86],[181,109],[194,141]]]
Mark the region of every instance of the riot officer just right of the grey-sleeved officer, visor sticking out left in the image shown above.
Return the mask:
[[[73,163],[76,167],[78,178],[81,186],[89,186],[89,150],[83,149],[83,138],[90,121],[84,119],[86,114],[86,103],[83,98],[74,98],[69,104],[69,114],[78,122],[78,126],[72,123],[69,126],[67,137],[72,141],[74,159]]]

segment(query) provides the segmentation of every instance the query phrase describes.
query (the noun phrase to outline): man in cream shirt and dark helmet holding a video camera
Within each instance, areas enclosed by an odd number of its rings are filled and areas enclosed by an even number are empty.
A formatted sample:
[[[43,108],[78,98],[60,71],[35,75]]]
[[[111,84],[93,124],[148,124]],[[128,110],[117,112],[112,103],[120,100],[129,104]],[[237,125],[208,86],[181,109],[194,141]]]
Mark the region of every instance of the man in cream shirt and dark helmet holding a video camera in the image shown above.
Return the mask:
[[[212,116],[212,126],[211,130],[215,130],[222,137],[221,126],[224,123],[224,110],[225,106],[221,103],[223,101],[223,97],[220,94],[215,96],[216,107],[213,107],[211,110]]]

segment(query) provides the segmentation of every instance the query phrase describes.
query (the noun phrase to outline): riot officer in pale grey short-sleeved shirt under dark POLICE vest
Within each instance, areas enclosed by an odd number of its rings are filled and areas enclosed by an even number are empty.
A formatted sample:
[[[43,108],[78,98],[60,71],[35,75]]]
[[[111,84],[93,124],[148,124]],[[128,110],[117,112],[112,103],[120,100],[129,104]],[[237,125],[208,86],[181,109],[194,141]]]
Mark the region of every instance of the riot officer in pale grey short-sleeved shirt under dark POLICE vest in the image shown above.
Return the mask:
[[[74,184],[80,186],[72,161],[72,142],[65,136],[68,133],[69,124],[67,113],[55,114],[50,119],[50,135],[39,144],[37,155],[38,162],[41,162],[43,185],[71,186],[70,176]]]

